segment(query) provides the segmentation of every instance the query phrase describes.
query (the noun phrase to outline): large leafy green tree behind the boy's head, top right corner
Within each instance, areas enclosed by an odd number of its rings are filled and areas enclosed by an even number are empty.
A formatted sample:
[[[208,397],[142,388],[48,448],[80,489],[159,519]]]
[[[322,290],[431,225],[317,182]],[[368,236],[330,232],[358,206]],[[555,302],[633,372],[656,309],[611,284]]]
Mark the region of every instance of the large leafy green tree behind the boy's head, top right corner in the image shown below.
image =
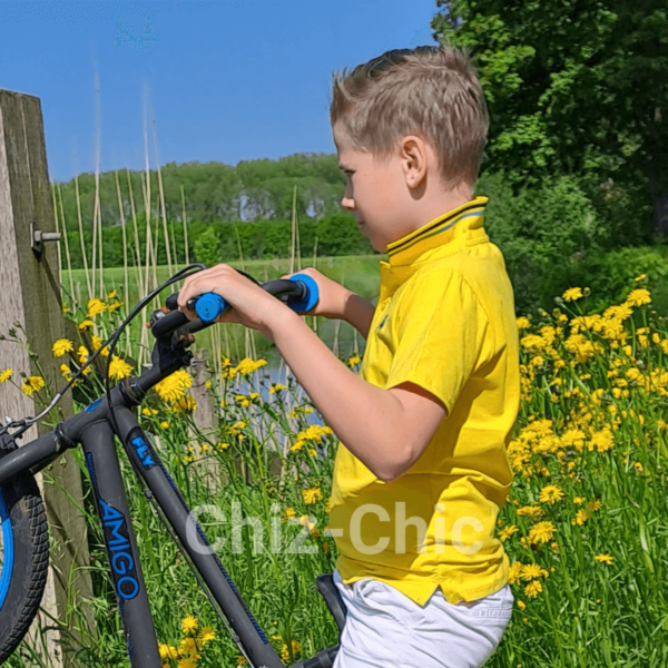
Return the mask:
[[[483,169],[645,184],[668,233],[666,0],[436,0],[435,37],[469,47],[490,110]]]

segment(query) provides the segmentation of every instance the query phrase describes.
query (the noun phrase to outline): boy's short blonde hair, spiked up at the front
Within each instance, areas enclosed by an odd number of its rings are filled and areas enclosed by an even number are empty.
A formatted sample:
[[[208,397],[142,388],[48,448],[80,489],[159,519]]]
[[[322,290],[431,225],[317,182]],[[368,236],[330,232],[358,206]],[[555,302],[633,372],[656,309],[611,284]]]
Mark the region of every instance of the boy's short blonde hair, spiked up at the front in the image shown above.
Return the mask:
[[[473,187],[487,144],[489,114],[468,49],[395,49],[332,76],[332,127],[353,146],[385,160],[406,135],[429,141],[445,188]]]

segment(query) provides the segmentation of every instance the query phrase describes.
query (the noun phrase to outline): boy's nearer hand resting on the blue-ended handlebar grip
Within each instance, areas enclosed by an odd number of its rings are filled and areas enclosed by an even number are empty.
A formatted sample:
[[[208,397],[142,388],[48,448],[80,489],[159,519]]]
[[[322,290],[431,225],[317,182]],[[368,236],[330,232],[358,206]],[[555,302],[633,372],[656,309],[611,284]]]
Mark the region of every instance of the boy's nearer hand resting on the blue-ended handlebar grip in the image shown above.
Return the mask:
[[[187,308],[186,304],[193,297],[207,292],[220,295],[232,306],[216,318],[217,323],[240,323],[258,330],[269,338],[272,323],[283,313],[281,310],[287,308],[274,295],[248,281],[234,267],[219,264],[186,278],[184,286],[178,291],[178,310],[189,320],[195,320],[197,314]]]

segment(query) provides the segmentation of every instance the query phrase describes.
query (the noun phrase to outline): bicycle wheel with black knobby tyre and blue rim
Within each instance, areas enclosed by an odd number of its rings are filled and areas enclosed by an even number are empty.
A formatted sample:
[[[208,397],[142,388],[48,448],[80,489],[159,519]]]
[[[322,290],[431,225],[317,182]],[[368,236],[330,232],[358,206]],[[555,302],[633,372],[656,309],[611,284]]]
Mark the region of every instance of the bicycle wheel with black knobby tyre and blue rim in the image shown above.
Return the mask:
[[[0,488],[0,664],[18,647],[41,602],[49,567],[45,504],[32,475]]]

